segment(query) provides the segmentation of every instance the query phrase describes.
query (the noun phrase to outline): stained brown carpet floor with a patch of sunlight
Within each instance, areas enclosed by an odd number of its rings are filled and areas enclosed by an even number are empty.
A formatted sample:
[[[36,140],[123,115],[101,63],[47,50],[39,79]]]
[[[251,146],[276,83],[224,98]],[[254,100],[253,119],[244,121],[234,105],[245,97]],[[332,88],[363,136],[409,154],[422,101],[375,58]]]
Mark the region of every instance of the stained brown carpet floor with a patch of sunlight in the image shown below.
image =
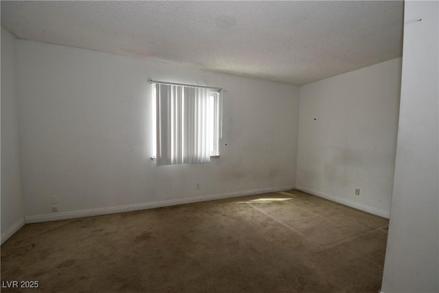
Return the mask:
[[[27,224],[2,292],[378,292],[388,220],[301,191]]]

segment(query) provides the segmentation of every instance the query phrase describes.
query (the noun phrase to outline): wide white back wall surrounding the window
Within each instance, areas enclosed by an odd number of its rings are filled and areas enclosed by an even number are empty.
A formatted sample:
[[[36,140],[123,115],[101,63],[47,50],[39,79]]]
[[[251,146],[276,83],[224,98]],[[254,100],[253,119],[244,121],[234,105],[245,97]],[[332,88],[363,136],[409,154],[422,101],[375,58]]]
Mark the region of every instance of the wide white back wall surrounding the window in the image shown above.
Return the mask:
[[[26,40],[17,47],[27,222],[296,185],[297,86]],[[150,160],[147,78],[226,89],[219,159]]]

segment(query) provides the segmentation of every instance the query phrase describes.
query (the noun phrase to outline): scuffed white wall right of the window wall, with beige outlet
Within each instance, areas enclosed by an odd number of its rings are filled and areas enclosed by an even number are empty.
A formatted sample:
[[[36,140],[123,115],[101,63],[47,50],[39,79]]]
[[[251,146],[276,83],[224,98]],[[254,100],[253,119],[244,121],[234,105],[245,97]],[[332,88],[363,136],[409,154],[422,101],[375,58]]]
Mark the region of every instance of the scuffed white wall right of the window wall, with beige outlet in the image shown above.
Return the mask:
[[[298,189],[388,218],[400,87],[401,58],[301,86]]]

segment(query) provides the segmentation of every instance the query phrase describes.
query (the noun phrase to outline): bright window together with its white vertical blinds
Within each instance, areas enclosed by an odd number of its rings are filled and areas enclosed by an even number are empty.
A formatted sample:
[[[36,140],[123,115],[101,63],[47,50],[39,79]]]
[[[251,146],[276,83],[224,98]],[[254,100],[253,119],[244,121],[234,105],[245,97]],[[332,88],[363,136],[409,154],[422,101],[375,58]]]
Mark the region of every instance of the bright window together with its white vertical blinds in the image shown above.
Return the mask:
[[[154,82],[152,97],[157,165],[206,163],[219,156],[221,89]]]

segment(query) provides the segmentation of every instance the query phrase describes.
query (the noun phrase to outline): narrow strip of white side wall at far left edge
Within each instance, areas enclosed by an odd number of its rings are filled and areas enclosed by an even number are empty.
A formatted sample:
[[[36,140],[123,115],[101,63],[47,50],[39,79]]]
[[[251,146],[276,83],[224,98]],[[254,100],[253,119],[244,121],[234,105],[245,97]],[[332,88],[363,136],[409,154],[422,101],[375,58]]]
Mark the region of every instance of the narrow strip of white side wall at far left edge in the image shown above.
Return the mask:
[[[16,40],[1,28],[1,243],[24,225],[16,97]]]

